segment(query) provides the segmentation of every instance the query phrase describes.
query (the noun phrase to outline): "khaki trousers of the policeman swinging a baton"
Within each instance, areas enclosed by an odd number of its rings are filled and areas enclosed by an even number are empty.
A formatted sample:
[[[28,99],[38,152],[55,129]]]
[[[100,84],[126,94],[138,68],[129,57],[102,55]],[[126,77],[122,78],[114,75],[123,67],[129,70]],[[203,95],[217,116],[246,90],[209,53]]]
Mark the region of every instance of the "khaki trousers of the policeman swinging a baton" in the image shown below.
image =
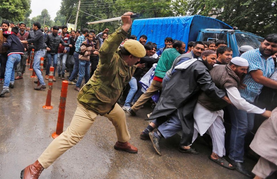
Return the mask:
[[[82,140],[98,116],[93,110],[88,110],[79,102],[77,103],[77,109],[66,131],[55,138],[38,158],[43,168],[48,168],[66,150]],[[130,134],[127,129],[124,110],[116,103],[114,109],[104,116],[114,125],[118,141],[127,142],[130,139]]]

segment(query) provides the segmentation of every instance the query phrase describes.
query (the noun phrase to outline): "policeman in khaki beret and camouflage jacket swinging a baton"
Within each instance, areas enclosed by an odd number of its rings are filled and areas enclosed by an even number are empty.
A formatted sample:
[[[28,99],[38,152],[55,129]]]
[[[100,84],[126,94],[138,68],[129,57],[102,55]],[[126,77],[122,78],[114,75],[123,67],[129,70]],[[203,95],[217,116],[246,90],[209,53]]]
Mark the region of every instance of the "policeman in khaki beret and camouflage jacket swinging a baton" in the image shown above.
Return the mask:
[[[21,178],[38,178],[44,168],[48,168],[66,150],[76,145],[90,129],[98,114],[107,117],[115,126],[118,141],[116,150],[137,153],[138,149],[128,140],[124,110],[116,103],[125,85],[136,69],[136,62],[145,56],[145,49],[138,41],[128,40],[118,50],[122,40],[132,26],[127,12],[122,18],[123,25],[109,35],[99,50],[99,65],[91,79],[77,96],[77,109],[67,130],[54,139],[38,160],[21,171]],[[104,137],[104,136],[103,136]]]

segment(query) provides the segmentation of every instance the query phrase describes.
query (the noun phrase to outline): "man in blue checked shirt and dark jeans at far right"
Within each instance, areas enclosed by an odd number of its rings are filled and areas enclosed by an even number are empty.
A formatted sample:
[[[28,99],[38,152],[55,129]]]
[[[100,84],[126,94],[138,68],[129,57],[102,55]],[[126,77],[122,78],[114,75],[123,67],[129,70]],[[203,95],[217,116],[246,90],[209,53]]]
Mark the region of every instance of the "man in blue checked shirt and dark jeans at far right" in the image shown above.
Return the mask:
[[[274,72],[272,55],[277,52],[277,34],[267,35],[259,49],[247,51],[241,55],[249,63],[248,74],[244,77],[244,89],[240,89],[240,95],[247,102],[253,104],[261,92],[263,86],[277,89],[277,81],[269,77]],[[231,117],[231,138],[229,150],[229,162],[236,170],[248,177],[252,177],[243,166],[244,138],[254,125],[254,114],[238,110],[235,106],[228,108]]]

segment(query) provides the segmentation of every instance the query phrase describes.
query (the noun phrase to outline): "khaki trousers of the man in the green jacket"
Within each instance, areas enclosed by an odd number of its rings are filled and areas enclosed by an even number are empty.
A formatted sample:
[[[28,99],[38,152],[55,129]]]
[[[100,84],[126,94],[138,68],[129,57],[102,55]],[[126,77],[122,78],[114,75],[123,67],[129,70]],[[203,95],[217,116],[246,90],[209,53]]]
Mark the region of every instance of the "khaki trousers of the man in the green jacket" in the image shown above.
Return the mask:
[[[143,106],[143,104],[145,102],[147,102],[147,100],[155,94],[155,92],[157,92],[158,90],[162,90],[162,89],[163,89],[162,83],[159,81],[153,80],[150,87],[146,90],[146,92],[143,93],[139,97],[137,102],[132,106],[132,110],[134,112],[137,112],[141,108],[141,106]]]

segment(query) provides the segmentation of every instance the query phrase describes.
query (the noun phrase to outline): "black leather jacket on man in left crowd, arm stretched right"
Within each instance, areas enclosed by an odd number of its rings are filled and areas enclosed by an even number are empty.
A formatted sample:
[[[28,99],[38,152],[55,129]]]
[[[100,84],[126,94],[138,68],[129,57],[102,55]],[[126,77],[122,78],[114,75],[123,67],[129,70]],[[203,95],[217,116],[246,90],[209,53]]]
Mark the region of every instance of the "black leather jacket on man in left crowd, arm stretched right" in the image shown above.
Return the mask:
[[[58,34],[54,35],[54,33],[48,34],[45,38],[45,49],[48,47],[50,51],[47,53],[56,54],[58,53],[59,44],[62,44],[64,47],[69,47],[68,43],[65,43],[62,40],[62,37]]]

